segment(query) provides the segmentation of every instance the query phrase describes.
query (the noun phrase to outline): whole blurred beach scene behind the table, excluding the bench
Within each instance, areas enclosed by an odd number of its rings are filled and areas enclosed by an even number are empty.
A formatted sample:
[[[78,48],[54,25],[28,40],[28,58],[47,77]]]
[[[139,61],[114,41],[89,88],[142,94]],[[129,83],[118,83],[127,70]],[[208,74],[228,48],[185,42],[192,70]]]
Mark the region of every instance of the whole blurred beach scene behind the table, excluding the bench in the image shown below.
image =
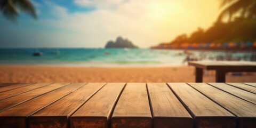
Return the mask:
[[[188,61],[256,61],[251,0],[0,5],[0,83],[195,82]],[[214,78],[214,71],[204,71],[204,82]],[[255,78],[227,74],[227,82]]]

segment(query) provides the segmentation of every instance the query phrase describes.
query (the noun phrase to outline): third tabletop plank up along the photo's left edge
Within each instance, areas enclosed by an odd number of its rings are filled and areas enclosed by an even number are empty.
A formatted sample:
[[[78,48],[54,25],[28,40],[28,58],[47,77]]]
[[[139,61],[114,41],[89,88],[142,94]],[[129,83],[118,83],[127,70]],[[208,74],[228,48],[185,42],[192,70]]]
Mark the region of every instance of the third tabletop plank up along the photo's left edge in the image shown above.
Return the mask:
[[[9,98],[9,97],[12,97],[14,95],[18,95],[18,94],[21,94],[24,92],[28,92],[30,90],[34,90],[34,89],[37,89],[39,87],[43,87],[43,86],[46,86],[49,84],[50,83],[37,83],[37,84],[29,85],[29,86],[23,86],[18,89],[13,89],[10,91],[2,92],[2,93],[0,93],[0,100],[6,99],[6,98]]]

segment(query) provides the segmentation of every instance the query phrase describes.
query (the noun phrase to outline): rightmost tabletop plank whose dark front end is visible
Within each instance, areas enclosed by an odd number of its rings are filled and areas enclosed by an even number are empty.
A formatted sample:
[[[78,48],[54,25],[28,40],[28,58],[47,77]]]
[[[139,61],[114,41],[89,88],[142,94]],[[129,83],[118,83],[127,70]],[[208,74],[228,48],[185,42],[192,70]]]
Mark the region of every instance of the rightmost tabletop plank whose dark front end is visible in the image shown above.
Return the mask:
[[[239,127],[256,127],[256,105],[221,91],[204,83],[190,84],[222,107],[235,114],[239,120]]]

